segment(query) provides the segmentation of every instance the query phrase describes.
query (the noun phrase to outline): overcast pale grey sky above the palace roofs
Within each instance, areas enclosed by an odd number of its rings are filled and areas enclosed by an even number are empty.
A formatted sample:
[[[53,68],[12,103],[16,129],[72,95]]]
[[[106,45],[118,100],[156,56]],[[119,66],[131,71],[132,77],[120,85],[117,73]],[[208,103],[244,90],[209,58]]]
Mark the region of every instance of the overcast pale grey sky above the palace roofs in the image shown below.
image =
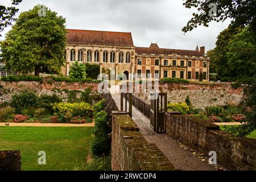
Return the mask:
[[[181,28],[193,10],[185,9],[182,0],[23,0],[19,13],[39,3],[66,18],[67,28],[131,32],[138,47],[157,42],[163,48],[195,49],[198,43],[209,50],[230,22],[212,22],[184,35]],[[1,5],[10,5],[10,0],[1,0]],[[9,30],[2,32],[0,40]]]

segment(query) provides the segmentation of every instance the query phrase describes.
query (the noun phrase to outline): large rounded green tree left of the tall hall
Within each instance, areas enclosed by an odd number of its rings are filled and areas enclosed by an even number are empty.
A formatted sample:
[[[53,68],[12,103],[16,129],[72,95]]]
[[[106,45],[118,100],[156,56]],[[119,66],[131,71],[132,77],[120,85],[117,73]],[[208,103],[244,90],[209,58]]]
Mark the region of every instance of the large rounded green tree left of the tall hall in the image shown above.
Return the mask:
[[[43,16],[39,12],[45,10]],[[19,15],[1,42],[6,68],[28,73],[60,73],[64,65],[65,19],[43,5]]]

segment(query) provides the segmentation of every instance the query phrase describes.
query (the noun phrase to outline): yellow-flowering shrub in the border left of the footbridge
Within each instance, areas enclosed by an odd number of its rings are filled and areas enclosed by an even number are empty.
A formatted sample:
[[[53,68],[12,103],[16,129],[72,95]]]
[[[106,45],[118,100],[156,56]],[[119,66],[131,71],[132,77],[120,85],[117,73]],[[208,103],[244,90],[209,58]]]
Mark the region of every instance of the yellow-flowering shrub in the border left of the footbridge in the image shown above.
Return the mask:
[[[75,113],[77,111],[80,111],[81,115],[86,115],[88,117],[92,116],[92,106],[85,102],[76,102],[76,103],[57,103],[53,106],[53,111],[56,114],[67,114],[69,113]],[[75,115],[73,115],[75,116]]]

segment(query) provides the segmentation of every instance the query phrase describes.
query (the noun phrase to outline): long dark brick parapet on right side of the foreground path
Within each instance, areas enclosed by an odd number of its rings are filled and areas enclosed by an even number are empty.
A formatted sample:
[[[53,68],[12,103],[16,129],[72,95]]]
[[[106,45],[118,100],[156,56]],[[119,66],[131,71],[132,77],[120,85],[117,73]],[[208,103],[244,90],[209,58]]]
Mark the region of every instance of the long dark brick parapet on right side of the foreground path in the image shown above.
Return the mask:
[[[217,163],[234,170],[256,169],[256,140],[237,138],[203,119],[167,113],[166,133],[208,155],[217,152]]]

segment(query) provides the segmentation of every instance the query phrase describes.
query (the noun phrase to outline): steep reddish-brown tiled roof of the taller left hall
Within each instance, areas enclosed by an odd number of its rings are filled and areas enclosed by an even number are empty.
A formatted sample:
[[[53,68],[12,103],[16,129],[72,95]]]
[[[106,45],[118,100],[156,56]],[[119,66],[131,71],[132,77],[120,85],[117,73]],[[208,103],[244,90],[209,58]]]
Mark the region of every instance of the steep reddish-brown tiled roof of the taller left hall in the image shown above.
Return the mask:
[[[94,30],[67,30],[68,43],[112,44],[134,46],[130,32],[109,32]]]

